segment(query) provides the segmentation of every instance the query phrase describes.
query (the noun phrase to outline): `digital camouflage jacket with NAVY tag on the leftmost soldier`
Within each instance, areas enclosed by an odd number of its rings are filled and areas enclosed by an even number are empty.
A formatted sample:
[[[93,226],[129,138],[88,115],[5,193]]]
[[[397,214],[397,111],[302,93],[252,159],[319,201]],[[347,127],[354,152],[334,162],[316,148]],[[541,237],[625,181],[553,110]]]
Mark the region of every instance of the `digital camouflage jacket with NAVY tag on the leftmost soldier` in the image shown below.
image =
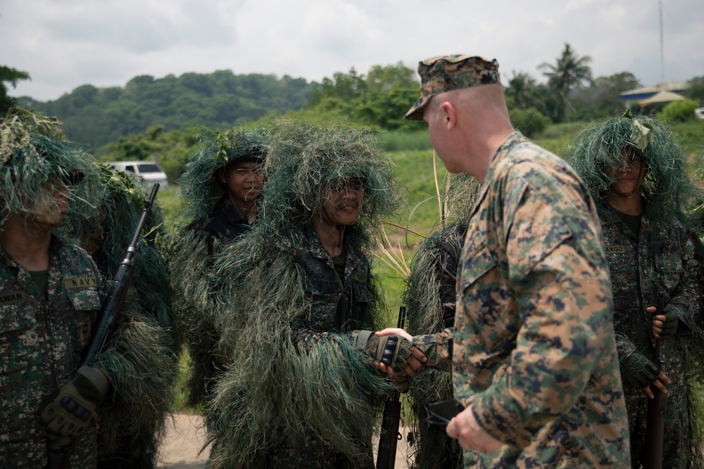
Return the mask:
[[[39,410],[73,378],[106,295],[87,253],[52,237],[48,295],[0,247],[0,465],[46,465]],[[94,468],[95,426],[80,438],[72,468]]]

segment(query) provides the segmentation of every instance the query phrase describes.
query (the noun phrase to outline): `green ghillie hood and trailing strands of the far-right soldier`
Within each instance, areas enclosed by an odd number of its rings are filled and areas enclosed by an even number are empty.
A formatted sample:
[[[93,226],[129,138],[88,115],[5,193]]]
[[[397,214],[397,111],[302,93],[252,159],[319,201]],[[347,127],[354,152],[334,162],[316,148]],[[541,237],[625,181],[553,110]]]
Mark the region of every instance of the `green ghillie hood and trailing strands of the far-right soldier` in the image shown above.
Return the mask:
[[[648,174],[643,180],[642,195],[647,210],[653,219],[677,219],[684,226],[698,231],[697,221],[689,209],[694,203],[704,200],[704,192],[698,188],[686,172],[686,155],[681,150],[674,134],[664,124],[649,117],[633,117],[629,112],[622,117],[594,124],[584,129],[568,148],[565,160],[574,167],[589,188],[597,205],[604,206],[608,188],[614,181],[606,173],[608,167],[625,165],[621,152],[634,148],[636,155],[648,165]],[[617,217],[613,210],[600,210],[600,217]],[[699,231],[698,234],[701,232]],[[701,243],[698,251],[703,250]],[[698,252],[700,271],[704,252]],[[700,285],[704,281],[700,279]],[[700,300],[701,301],[701,300]],[[701,308],[701,304],[697,305]],[[698,314],[702,314],[699,311]],[[700,416],[704,409],[702,385],[704,365],[700,360],[704,354],[704,330],[694,328],[692,334],[681,335],[681,345],[686,364],[687,397],[689,399],[689,423],[691,451],[689,468],[704,468],[704,456],[699,450],[704,441],[704,428]]]

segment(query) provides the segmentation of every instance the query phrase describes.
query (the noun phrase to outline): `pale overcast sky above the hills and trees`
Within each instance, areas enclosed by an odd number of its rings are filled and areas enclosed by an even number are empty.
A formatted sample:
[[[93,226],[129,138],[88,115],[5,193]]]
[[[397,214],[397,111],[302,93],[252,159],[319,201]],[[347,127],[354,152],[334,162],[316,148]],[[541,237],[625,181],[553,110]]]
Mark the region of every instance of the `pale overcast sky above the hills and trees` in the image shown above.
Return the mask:
[[[660,82],[658,0],[0,0],[0,65],[29,72],[11,96],[53,100],[137,75],[290,75],[470,53],[544,81],[565,43],[593,76]],[[704,76],[704,0],[662,0],[665,80]]]

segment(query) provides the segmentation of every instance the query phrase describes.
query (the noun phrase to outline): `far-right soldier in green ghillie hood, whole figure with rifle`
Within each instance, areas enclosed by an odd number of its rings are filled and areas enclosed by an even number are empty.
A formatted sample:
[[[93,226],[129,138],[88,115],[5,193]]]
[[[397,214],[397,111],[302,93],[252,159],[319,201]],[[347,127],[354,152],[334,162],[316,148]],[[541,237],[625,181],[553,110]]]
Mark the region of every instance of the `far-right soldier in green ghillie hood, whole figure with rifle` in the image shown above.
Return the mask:
[[[614,293],[614,328],[633,467],[645,463],[648,398],[667,388],[663,468],[702,468],[693,387],[702,383],[700,278],[686,214],[700,190],[660,122],[629,113],[575,138],[570,161],[598,205]],[[658,311],[658,296],[665,295]],[[653,361],[660,341],[662,371]]]

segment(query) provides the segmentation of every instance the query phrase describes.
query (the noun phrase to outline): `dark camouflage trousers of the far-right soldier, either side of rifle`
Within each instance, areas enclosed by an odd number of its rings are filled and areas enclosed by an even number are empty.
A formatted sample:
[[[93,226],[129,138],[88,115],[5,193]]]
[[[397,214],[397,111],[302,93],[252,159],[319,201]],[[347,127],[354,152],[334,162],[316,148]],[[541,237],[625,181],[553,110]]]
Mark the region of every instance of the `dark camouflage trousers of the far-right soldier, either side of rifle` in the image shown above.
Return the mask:
[[[662,469],[686,469],[691,437],[686,385],[670,373],[667,373],[667,376],[672,380],[672,384],[667,386],[665,397],[667,411],[665,437],[662,441]],[[626,396],[631,433],[631,462],[634,469],[643,465],[649,400],[640,392],[629,392]]]

